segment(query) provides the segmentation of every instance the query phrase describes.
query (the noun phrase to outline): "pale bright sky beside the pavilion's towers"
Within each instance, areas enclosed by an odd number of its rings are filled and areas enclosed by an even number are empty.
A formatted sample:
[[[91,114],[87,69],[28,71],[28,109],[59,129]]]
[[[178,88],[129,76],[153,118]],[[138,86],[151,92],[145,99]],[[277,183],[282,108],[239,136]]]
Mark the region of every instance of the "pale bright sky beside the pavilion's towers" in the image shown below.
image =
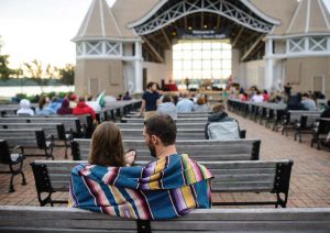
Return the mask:
[[[0,0],[1,54],[18,68],[33,59],[75,64],[76,35],[92,0]],[[107,0],[111,7],[116,0]],[[138,1],[138,0],[136,0]],[[330,0],[323,0],[330,10]]]

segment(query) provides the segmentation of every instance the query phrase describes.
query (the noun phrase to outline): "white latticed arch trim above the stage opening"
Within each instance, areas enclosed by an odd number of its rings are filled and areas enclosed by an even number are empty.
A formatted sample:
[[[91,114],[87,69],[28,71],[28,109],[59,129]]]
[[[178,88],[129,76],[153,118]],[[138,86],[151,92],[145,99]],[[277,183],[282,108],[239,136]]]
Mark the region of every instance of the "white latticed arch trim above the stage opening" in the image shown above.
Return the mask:
[[[248,14],[229,1],[216,0],[211,2],[210,0],[195,0],[194,2],[190,2],[188,0],[183,0],[175,5],[172,5],[155,19],[145,22],[144,24],[134,26],[134,31],[139,35],[150,34],[185,15],[197,12],[210,12],[219,14],[261,33],[270,33],[274,26],[271,23]],[[135,24],[130,24],[129,26]]]

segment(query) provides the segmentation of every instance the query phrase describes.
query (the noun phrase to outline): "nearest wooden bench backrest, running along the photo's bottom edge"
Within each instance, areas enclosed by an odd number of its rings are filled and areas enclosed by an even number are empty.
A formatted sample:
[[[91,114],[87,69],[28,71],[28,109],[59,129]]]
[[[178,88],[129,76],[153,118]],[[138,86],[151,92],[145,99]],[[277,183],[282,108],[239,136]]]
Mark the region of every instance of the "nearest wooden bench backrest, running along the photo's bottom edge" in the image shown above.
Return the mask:
[[[0,231],[326,233],[330,231],[330,209],[197,209],[177,219],[148,222],[76,208],[0,206]]]

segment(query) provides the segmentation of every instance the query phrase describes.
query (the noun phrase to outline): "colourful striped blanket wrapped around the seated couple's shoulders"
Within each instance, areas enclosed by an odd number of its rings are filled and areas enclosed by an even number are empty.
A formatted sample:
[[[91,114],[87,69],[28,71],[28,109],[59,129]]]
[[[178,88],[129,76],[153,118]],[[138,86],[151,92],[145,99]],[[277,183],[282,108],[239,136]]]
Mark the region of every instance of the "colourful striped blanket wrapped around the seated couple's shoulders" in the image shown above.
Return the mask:
[[[144,167],[80,164],[72,170],[69,206],[130,219],[170,219],[211,207],[210,178],[202,165],[177,154]]]

